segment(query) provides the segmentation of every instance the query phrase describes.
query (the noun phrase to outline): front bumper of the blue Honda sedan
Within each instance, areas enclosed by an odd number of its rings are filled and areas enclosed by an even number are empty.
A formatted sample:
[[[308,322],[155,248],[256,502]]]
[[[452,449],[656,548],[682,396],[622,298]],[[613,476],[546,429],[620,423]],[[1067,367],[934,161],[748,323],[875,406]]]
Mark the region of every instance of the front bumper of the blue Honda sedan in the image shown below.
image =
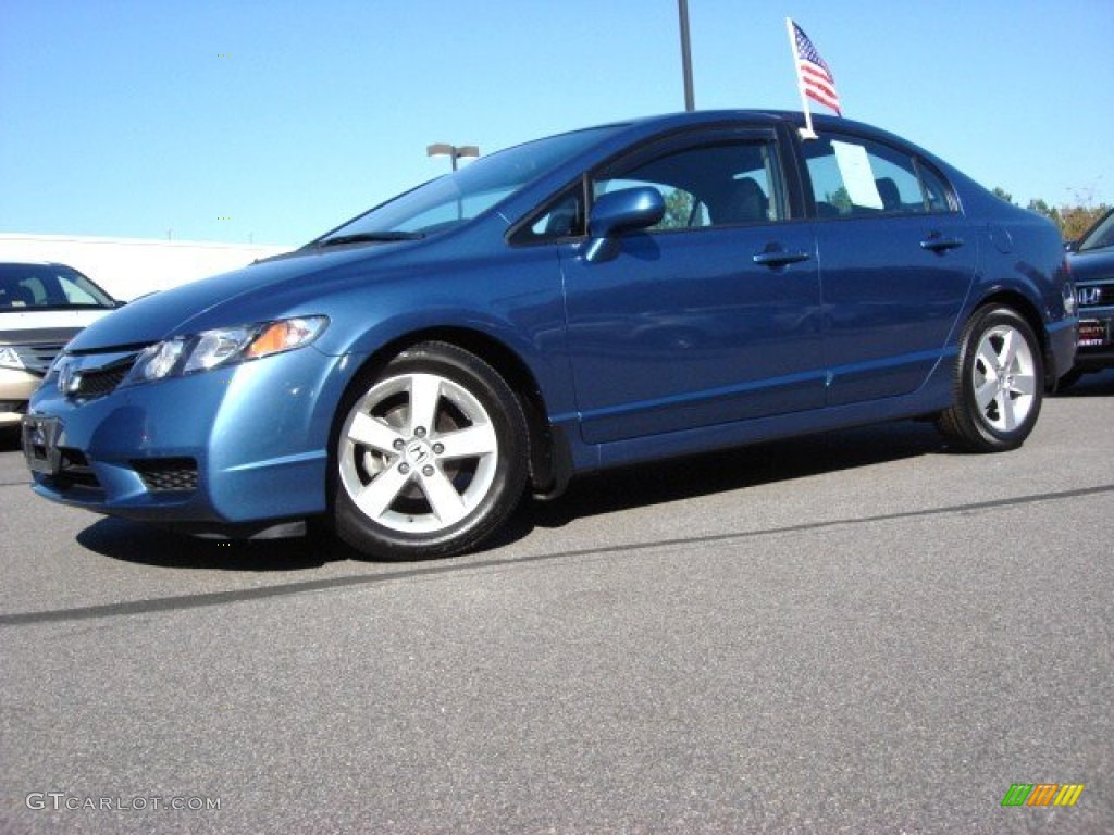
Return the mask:
[[[322,513],[345,366],[309,346],[88,400],[49,379],[23,421],[32,489],[194,532]]]

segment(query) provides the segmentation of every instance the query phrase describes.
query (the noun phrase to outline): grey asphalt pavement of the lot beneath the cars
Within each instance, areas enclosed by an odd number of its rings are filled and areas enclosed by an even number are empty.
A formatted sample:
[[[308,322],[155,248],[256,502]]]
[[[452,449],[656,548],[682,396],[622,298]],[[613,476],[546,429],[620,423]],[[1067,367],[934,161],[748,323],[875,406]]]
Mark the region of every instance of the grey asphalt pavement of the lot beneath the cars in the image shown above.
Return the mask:
[[[384,563],[52,505],[9,435],[0,833],[1114,832],[1112,463],[1114,372],[1015,452],[762,444]]]

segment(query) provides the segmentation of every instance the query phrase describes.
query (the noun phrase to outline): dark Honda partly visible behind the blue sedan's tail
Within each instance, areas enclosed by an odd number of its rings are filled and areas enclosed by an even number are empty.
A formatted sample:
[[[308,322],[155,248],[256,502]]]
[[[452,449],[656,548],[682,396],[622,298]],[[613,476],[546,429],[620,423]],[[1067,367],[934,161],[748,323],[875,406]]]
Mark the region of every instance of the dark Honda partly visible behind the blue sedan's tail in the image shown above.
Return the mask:
[[[1079,343],[1062,387],[1114,366],[1114,209],[1069,245],[1067,258],[1079,302]]]

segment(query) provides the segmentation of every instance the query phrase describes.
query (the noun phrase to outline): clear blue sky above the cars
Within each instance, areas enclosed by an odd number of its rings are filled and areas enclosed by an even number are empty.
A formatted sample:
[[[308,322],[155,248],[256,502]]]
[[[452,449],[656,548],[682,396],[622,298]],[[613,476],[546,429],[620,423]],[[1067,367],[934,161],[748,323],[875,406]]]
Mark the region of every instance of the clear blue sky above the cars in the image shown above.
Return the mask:
[[[1114,203],[1114,0],[690,0],[696,106],[844,115]],[[684,108],[676,0],[0,0],[0,232],[296,245],[483,151]],[[819,106],[818,111],[823,111]]]

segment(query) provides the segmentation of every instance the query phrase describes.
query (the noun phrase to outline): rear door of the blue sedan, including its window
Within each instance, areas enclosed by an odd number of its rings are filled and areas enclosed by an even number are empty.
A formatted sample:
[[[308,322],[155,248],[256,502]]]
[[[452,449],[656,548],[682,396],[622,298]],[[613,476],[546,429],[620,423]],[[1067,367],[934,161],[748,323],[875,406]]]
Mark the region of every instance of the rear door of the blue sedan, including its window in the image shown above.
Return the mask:
[[[977,236],[909,150],[825,134],[803,144],[817,213],[832,405],[907,394],[948,352]]]

